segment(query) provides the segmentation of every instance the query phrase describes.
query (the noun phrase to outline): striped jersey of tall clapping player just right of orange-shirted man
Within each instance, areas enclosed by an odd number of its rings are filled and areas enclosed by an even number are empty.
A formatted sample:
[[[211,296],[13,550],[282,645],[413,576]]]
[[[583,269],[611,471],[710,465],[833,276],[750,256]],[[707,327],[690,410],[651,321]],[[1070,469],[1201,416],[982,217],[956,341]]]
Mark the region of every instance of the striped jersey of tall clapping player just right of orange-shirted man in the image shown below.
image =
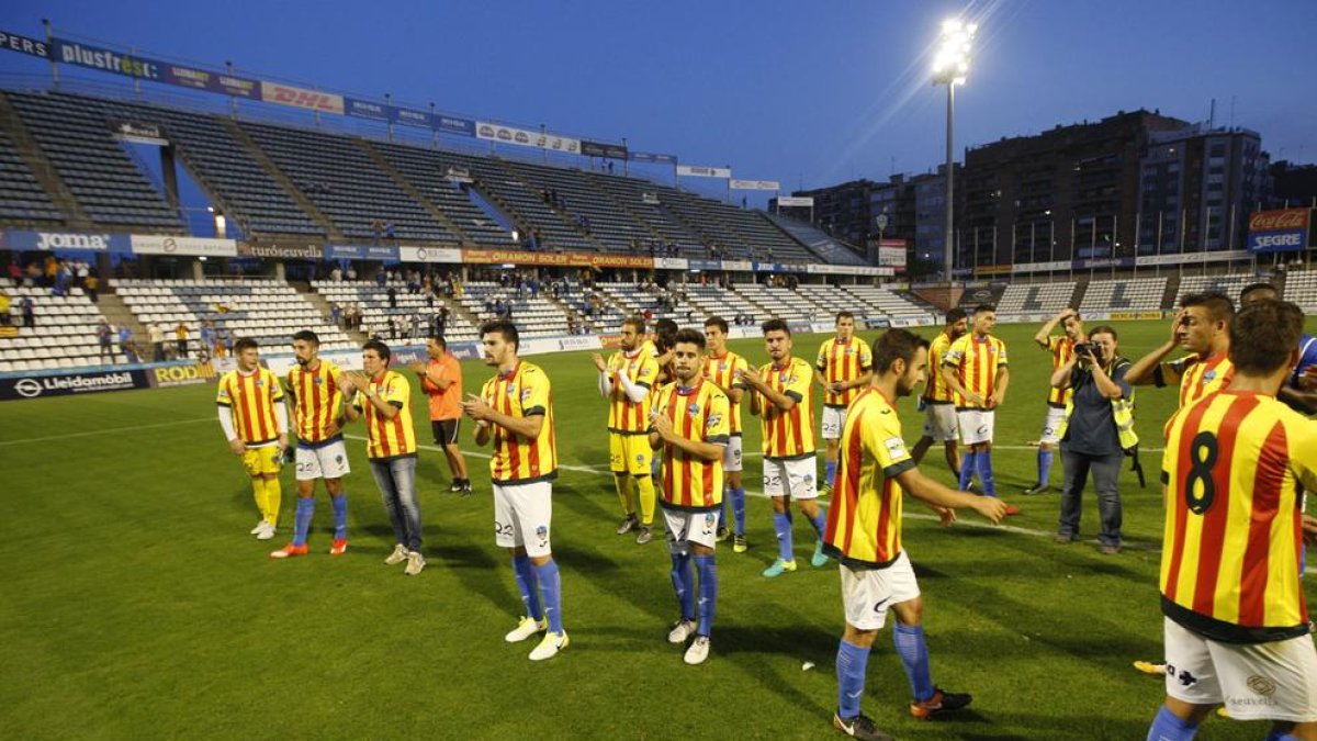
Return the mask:
[[[490,477],[495,484],[531,484],[558,473],[558,451],[553,430],[553,389],[539,365],[524,360],[507,373],[485,381],[481,397],[508,417],[544,415],[544,426],[527,438],[494,426],[494,456]]]

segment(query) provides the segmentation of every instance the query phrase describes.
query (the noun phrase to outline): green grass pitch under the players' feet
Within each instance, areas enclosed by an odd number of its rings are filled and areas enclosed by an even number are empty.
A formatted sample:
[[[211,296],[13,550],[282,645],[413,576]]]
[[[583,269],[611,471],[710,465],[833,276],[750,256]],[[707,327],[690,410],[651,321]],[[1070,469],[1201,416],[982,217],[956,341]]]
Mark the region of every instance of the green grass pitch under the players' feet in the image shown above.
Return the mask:
[[[972,692],[956,717],[919,723],[884,630],[868,667],[864,711],[898,737],[1143,738],[1162,683],[1130,662],[1158,659],[1159,455],[1148,487],[1122,475],[1127,548],[1051,541],[1056,494],[1019,496],[1033,481],[1050,374],[1035,326],[1004,326],[1011,384],[997,421],[1000,492],[1021,506],[1009,526],[971,513],[942,529],[907,500],[905,542],[926,597],[934,680]],[[1166,336],[1160,322],[1118,323],[1122,353]],[[931,336],[935,330],[925,330]],[[874,332],[861,336],[872,339]],[[813,360],[823,336],[798,336]],[[734,349],[763,363],[760,340]],[[282,349],[282,348],[281,348]],[[295,501],[283,472],[275,541],[249,537],[257,518],[215,419],[213,386],[63,397],[0,406],[4,484],[0,571],[0,728],[9,738],[819,738],[832,730],[834,657],[842,629],[836,567],[814,570],[813,533],[797,522],[801,570],[776,580],[766,500],[752,496],[747,554],[720,548],[712,654],[701,667],[665,641],[676,617],[661,538],[636,546],[612,530],[605,402],[586,353],[532,359],[553,381],[565,469],[554,485],[554,555],[562,567],[572,646],[543,665],[532,643],[508,645],[516,597],[494,546],[489,467],[469,456],[477,493],[446,493],[443,456],[424,450],[419,490],[429,566],[386,567],[391,531],[365,443],[349,440],[352,547],[325,554],[331,508],[319,492],[312,555],[267,558],[287,542]],[[464,364],[469,390],[487,377]],[[419,401],[419,398],[417,398]],[[1141,389],[1138,430],[1160,448],[1172,389]],[[906,439],[919,434],[901,403]],[[419,439],[431,443],[424,406]],[[757,421],[747,415],[747,451]],[[818,421],[815,419],[815,425]],[[349,430],[361,435],[360,425]],[[470,427],[464,430],[474,448]],[[822,471],[822,463],[819,465]],[[925,471],[950,483],[940,448]],[[1060,483],[1060,465],[1052,483]],[[759,459],[747,461],[759,489]],[[1309,588],[1309,599],[1313,591]],[[814,662],[803,671],[803,662]],[[1220,719],[1200,737],[1259,738],[1262,724]]]

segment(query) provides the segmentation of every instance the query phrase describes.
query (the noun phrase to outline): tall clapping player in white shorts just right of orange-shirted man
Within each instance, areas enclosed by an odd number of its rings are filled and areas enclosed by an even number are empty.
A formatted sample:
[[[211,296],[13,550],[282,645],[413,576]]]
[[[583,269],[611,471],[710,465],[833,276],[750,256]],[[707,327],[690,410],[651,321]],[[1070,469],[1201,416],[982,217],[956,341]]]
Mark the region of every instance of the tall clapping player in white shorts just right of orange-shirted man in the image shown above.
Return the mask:
[[[549,377],[518,357],[516,324],[487,322],[481,327],[485,364],[497,373],[481,396],[468,394],[462,410],[475,422],[475,444],[493,440],[494,541],[512,554],[512,572],[525,616],[503,637],[525,641],[548,629],[531,661],[551,659],[568,647],[562,629],[562,576],[553,560],[553,479],[558,454],[553,431]]]

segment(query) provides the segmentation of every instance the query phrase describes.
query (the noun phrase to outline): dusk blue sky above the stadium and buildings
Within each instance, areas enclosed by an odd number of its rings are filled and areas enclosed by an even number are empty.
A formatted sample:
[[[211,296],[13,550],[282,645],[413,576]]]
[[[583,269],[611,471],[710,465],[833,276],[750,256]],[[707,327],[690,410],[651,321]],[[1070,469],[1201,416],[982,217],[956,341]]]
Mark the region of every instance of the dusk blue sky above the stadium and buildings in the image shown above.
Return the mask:
[[[1206,120],[1213,98],[1217,124],[1260,132],[1274,160],[1317,160],[1313,0],[11,0],[0,28],[41,36],[49,17],[61,33],[141,54],[209,69],[232,59],[253,76],[627,137],[794,189],[943,160],[946,92],[928,66],[955,15],[980,24],[956,95],[957,160],[964,146],[1121,109]],[[36,82],[49,66],[0,53],[0,74]]]

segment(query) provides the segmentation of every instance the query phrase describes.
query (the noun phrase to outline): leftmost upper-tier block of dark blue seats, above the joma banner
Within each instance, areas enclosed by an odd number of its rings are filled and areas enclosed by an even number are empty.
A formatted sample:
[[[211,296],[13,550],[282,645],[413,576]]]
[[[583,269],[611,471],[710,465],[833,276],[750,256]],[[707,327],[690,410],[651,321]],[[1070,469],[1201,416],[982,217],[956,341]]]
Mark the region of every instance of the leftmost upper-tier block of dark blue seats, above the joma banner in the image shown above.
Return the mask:
[[[41,152],[92,222],[182,233],[179,212],[165,202],[95,107],[68,96],[8,92]]]

